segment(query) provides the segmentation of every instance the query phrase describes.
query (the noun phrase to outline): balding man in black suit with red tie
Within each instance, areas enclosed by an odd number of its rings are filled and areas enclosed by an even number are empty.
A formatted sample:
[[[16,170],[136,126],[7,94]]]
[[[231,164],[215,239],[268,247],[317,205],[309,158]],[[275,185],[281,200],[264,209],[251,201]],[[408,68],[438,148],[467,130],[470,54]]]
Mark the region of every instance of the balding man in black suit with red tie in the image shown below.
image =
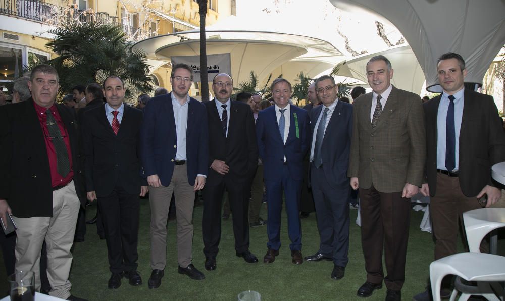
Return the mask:
[[[104,216],[110,289],[121,286],[123,275],[131,285],[142,284],[137,272],[139,195],[147,192],[138,149],[142,112],[123,103],[125,91],[121,78],[109,76],[104,81],[107,103],[82,116],[87,198],[99,200]]]

